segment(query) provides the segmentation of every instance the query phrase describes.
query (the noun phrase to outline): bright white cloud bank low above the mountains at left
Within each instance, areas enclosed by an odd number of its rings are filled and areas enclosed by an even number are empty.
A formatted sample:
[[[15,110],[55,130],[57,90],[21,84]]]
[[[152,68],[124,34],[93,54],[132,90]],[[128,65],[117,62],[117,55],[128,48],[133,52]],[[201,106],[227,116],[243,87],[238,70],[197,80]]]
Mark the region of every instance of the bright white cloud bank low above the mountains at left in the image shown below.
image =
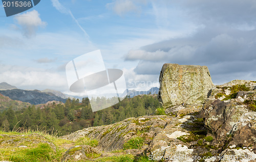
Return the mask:
[[[0,81],[22,89],[67,90],[65,73],[24,66],[0,65]]]

